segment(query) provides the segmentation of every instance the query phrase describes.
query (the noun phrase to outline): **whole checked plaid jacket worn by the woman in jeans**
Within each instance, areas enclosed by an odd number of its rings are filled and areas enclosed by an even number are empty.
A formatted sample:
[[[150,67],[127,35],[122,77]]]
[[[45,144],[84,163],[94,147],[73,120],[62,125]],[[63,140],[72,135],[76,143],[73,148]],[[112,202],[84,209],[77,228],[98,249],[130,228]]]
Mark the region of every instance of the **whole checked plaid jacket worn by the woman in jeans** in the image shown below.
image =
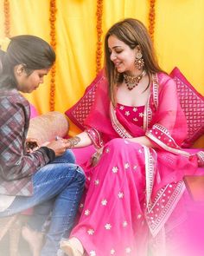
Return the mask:
[[[16,90],[0,89],[0,194],[29,196],[32,174],[49,161],[43,148],[26,154],[29,102]]]

